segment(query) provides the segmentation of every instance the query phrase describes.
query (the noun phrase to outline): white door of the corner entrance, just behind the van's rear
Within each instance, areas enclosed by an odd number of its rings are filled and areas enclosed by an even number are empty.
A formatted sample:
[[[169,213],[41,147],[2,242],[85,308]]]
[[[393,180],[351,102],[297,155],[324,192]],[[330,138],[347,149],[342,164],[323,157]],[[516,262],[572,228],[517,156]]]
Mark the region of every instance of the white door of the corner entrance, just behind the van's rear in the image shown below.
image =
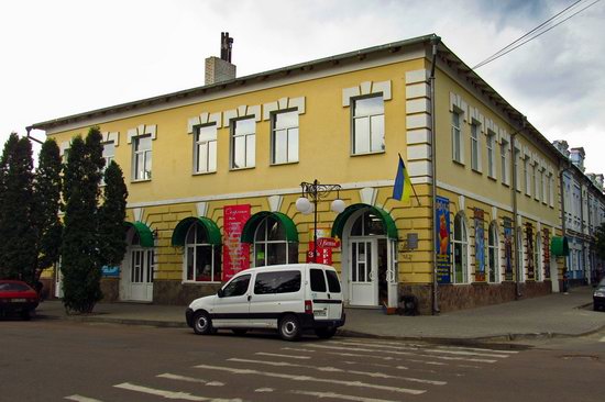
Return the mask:
[[[378,305],[377,248],[375,238],[350,242],[352,305]]]

